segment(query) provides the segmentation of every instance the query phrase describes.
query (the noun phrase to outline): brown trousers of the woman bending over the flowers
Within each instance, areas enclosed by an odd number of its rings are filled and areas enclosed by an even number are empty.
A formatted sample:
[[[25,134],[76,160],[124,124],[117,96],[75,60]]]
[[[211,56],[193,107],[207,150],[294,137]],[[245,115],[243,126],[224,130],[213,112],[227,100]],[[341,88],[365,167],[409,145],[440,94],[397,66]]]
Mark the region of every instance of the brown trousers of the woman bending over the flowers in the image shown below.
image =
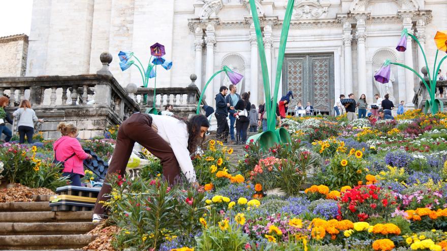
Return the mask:
[[[179,164],[169,144],[152,129],[152,118],[147,114],[136,113],[126,119],[118,130],[115,150],[107,171],[106,180],[98,195],[94,206],[94,213],[104,214],[105,208],[99,201],[106,201],[111,191],[108,183],[109,176],[120,173],[125,174],[125,168],[132,154],[135,142],[146,148],[155,157],[159,158],[163,166],[163,175],[170,184],[180,174]]]

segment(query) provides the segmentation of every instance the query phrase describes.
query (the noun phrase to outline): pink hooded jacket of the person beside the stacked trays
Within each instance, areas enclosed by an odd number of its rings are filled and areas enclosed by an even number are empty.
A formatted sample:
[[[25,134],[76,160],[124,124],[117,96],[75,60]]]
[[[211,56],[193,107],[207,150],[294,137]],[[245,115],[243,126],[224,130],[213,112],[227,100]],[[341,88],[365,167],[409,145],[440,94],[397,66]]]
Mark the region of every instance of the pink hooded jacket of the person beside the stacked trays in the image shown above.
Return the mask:
[[[75,153],[75,156],[65,162],[62,172],[74,172],[84,176],[84,164],[82,162],[88,158],[88,154],[84,152],[76,138],[60,137],[54,142],[53,150],[56,152],[56,159],[61,162]]]

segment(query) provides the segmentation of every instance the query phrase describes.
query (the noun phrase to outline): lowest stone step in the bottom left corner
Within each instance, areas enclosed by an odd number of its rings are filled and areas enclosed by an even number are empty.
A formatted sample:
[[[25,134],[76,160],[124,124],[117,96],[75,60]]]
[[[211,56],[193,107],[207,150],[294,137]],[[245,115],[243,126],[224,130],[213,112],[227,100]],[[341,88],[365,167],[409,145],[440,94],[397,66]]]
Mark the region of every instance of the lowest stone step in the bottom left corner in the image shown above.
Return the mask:
[[[0,236],[0,250],[49,250],[81,248],[94,235],[8,235]]]

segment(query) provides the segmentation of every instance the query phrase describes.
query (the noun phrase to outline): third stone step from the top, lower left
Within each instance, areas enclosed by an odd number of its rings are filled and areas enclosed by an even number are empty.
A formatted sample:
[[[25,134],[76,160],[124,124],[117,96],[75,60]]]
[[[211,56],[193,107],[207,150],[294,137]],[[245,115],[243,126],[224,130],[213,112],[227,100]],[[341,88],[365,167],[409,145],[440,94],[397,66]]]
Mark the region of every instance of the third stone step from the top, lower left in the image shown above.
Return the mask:
[[[91,222],[0,223],[1,235],[84,234],[95,225]]]

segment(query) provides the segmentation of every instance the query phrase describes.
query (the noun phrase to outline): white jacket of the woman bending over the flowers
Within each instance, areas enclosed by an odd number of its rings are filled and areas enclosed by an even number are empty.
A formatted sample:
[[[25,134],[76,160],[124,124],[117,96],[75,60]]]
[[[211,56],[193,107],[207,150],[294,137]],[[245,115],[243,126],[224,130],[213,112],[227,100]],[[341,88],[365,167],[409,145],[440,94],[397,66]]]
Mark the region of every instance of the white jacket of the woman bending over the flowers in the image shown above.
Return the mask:
[[[186,124],[171,116],[150,115],[157,126],[157,134],[171,146],[180,169],[189,182],[196,182],[196,172],[188,151],[188,130]]]

